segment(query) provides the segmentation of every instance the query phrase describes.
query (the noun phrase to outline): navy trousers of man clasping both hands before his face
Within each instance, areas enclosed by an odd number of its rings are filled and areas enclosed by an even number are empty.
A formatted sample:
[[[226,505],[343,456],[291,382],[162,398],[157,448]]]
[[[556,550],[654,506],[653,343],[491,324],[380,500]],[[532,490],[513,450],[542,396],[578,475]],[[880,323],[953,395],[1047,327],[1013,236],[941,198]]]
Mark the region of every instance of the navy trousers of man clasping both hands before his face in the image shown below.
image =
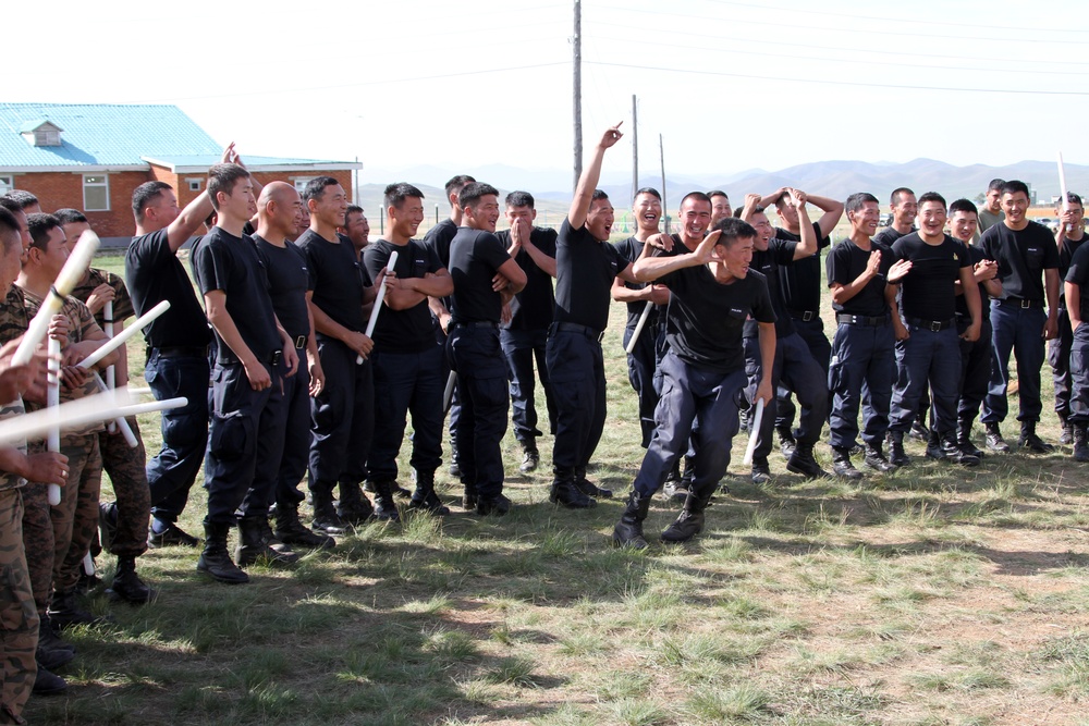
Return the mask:
[[[555,433],[555,396],[548,377],[544,349],[548,345],[548,330],[502,330],[499,342],[506,356],[507,378],[511,382],[511,418],[514,421],[514,438],[523,445],[536,446],[535,439],[543,435],[537,428],[537,402],[534,396],[537,376],[544,390],[544,405],[548,407],[549,432]]]

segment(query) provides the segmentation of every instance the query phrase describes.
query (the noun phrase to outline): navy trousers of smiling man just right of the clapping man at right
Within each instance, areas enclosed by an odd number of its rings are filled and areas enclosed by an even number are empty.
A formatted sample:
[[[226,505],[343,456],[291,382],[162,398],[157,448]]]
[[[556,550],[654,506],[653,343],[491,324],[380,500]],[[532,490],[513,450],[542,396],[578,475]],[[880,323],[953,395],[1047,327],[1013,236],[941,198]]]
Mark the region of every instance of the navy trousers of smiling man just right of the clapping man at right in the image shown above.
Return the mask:
[[[908,325],[907,340],[896,341],[896,384],[892,392],[890,431],[907,433],[930,385],[933,429],[942,439],[956,432],[957,381],[960,380],[960,337],[955,325],[932,331]]]

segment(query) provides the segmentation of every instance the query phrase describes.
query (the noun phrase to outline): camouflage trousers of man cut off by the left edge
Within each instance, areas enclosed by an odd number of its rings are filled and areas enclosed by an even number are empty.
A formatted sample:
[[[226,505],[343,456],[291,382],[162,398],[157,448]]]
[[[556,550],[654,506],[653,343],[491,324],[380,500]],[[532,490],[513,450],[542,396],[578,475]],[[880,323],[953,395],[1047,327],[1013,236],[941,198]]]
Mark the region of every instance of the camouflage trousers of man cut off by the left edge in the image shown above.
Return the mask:
[[[23,552],[23,503],[17,489],[0,491],[0,723],[22,723],[21,715],[38,667],[38,613]]]

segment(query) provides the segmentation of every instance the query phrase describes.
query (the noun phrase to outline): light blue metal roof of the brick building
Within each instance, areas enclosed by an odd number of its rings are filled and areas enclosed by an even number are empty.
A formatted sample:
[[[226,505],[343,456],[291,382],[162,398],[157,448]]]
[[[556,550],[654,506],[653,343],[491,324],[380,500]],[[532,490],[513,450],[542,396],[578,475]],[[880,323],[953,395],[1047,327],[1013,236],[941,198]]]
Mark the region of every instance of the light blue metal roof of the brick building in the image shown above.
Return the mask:
[[[46,120],[64,130],[61,146],[30,146],[21,135]],[[0,167],[143,165],[145,156],[221,152],[176,106],[0,103]]]

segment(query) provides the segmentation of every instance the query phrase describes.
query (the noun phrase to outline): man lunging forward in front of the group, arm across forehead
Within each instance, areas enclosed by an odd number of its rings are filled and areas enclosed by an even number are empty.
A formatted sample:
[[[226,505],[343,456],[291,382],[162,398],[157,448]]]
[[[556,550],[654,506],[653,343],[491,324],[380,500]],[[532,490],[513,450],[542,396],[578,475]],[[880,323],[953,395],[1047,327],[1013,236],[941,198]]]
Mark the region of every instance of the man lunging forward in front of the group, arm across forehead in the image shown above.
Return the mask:
[[[669,352],[662,359],[662,398],[657,427],[632,485],[627,505],[613,529],[613,542],[645,549],[643,521],[650,500],[664,483],[674,462],[694,440],[692,488],[681,515],[664,532],[666,542],[686,542],[703,527],[703,509],[730,465],[730,448],[738,430],[737,403],[748,379],[742,353],[742,330],[749,316],[759,329],[762,374],[756,399],[774,396],[775,312],[763,275],[752,273],[756,230],[738,219],[720,221],[695,250],[644,249],[635,275],[658,282],[672,295],[666,316]],[[693,431],[693,421],[699,429]]]

